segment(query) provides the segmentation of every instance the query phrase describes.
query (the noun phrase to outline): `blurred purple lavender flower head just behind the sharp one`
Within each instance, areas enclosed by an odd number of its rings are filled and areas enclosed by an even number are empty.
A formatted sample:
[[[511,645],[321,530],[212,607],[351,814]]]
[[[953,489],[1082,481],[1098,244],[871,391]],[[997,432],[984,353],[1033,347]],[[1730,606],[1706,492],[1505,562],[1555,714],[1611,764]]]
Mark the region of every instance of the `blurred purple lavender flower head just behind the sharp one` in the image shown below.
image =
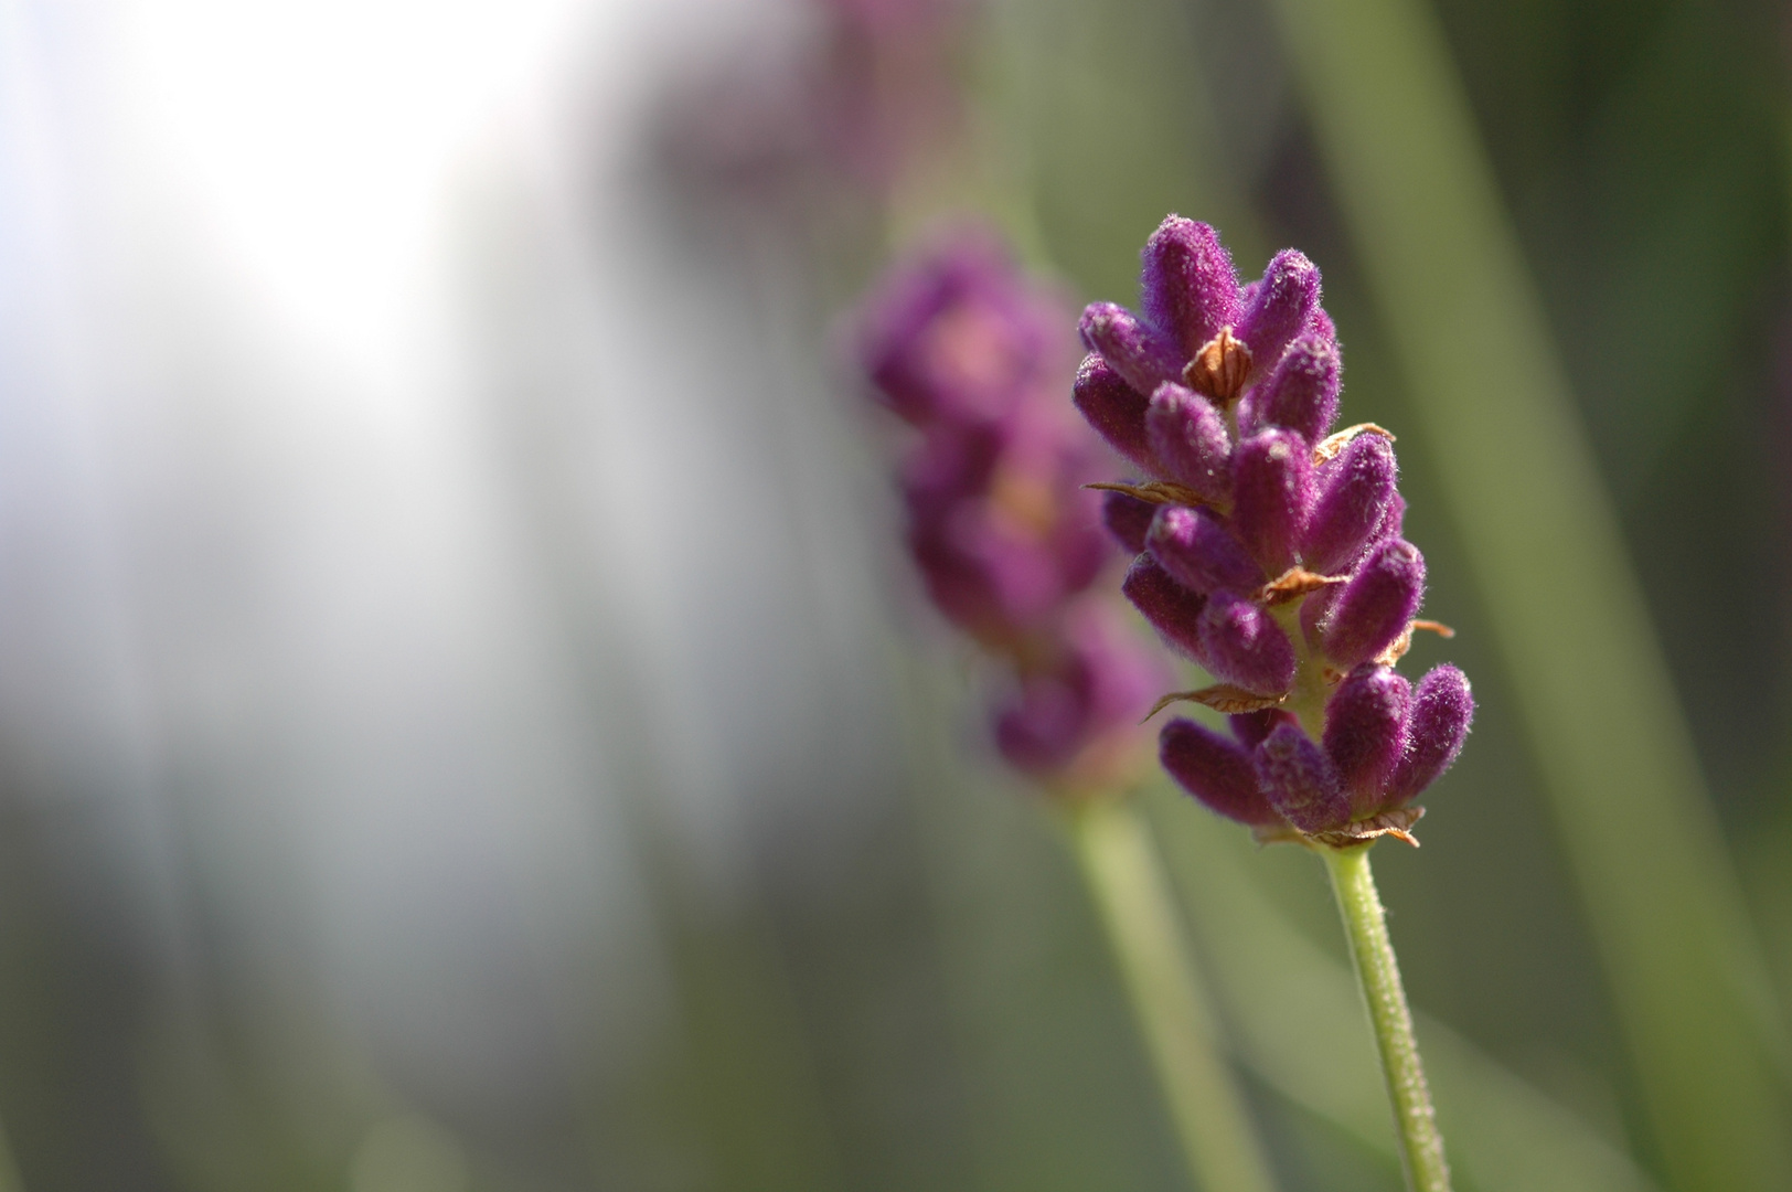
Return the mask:
[[[941,613],[1007,663],[995,740],[1059,785],[1115,778],[1163,669],[1086,595],[1115,561],[1082,484],[1104,452],[1064,410],[1064,308],[986,235],[961,233],[869,299],[858,362],[916,430],[900,482],[909,550]]]

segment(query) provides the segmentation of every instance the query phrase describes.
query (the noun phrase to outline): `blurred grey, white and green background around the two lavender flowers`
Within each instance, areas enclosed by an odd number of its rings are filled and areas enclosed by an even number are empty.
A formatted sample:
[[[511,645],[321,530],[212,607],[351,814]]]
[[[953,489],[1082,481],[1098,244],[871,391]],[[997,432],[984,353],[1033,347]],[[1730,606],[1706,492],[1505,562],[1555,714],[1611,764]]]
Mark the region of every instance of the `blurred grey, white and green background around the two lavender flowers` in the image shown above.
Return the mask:
[[[1460,1187],[1792,1187],[1787,18],[0,0],[0,1187],[1186,1187],[842,350],[1167,212],[1324,271],[1477,685],[1376,853]],[[1283,1185],[1398,1187],[1319,866],[1142,798]]]

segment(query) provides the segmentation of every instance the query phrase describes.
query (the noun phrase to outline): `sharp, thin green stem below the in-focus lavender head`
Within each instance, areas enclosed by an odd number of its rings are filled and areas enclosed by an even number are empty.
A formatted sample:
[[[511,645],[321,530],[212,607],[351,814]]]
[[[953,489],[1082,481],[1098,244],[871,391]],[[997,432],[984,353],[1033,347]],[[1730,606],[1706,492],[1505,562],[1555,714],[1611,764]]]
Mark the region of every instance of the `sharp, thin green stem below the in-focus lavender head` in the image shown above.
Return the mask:
[[[1432,1090],[1419,1065],[1419,1043],[1412,1036],[1412,1011],[1407,1009],[1407,991],[1400,984],[1394,941],[1387,936],[1387,914],[1374,889],[1374,873],[1369,871],[1369,846],[1317,851],[1326,859],[1331,893],[1337,894],[1344,934],[1349,937],[1357,982],[1369,1004],[1382,1075],[1394,1102],[1394,1133],[1400,1138],[1400,1163],[1407,1170],[1407,1187],[1414,1192],[1450,1192],[1444,1140],[1437,1133]]]

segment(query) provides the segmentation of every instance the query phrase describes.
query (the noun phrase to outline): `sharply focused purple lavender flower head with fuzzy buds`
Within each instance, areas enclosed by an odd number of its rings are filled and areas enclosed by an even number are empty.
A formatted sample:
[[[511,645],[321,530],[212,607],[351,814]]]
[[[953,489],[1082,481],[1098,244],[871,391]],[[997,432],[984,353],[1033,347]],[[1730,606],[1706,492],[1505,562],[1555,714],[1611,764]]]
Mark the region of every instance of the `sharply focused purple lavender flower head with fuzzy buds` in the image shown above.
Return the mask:
[[[1142,314],[1095,303],[1075,405],[1145,473],[1104,522],[1138,557],[1122,584],[1220,683],[1183,695],[1231,735],[1170,721],[1165,769],[1265,839],[1405,834],[1475,703],[1460,670],[1394,670],[1425,595],[1401,538],[1392,437],[1331,434],[1340,357],[1319,271],[1283,251],[1240,285],[1206,224],[1168,217],[1143,251]],[[1448,633],[1448,631],[1444,631]]]

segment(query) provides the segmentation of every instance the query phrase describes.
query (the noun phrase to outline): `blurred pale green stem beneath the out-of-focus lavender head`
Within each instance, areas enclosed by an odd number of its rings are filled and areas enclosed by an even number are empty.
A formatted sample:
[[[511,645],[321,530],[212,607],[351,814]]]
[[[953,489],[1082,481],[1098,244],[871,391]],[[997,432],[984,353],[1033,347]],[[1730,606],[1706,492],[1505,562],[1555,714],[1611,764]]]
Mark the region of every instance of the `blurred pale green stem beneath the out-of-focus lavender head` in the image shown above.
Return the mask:
[[[1272,1192],[1269,1162],[1215,1047],[1213,1015],[1176,923],[1176,900],[1138,812],[1129,801],[1093,799],[1070,812],[1070,830],[1190,1174],[1206,1192]]]

